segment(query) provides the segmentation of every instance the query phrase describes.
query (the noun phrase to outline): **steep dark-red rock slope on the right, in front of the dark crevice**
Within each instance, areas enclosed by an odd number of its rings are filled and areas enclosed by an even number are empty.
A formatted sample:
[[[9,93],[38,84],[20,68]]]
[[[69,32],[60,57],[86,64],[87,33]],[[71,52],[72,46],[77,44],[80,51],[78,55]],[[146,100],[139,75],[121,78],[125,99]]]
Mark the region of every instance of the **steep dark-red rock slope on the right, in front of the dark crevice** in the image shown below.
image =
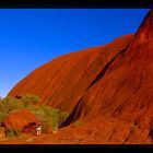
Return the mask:
[[[153,123],[153,10],[149,12],[127,48],[111,62],[105,75],[85,93],[80,118],[91,120],[101,117],[119,129],[128,121],[127,139],[119,143],[152,141]],[[117,127],[114,127],[117,123]],[[119,123],[120,122],[120,123]],[[107,123],[103,121],[103,132]],[[106,132],[105,132],[106,133]],[[129,133],[129,134],[128,134]],[[113,137],[117,142],[118,136]],[[109,139],[109,141],[113,141]]]

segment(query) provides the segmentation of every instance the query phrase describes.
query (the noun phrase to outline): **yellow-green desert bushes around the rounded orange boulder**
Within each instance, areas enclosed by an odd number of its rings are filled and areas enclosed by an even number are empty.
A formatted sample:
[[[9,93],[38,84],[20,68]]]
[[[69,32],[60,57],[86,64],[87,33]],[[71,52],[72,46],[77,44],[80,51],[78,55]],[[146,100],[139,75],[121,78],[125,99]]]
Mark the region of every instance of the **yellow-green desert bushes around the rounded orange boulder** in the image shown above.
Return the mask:
[[[11,114],[27,109],[33,113],[42,123],[43,132],[47,132],[48,128],[57,130],[58,127],[68,118],[69,114],[50,106],[38,104],[40,99],[36,95],[25,94],[22,97],[10,97],[0,99],[0,127],[3,120]],[[19,136],[22,129],[8,128],[7,136]]]

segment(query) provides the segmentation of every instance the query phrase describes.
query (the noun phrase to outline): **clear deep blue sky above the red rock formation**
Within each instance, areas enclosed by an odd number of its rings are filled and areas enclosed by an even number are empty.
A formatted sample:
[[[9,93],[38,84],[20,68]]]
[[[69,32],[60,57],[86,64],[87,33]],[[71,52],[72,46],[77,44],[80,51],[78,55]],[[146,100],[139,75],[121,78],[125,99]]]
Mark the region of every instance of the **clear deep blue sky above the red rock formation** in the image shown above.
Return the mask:
[[[0,96],[60,55],[134,33],[149,9],[0,9]]]

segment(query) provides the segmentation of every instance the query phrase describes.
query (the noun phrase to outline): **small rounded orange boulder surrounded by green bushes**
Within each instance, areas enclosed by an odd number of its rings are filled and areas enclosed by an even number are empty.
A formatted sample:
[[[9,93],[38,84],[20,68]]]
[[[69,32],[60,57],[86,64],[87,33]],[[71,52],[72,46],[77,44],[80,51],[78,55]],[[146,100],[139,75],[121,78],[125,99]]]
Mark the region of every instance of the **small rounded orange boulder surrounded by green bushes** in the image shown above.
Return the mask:
[[[27,109],[10,114],[2,122],[7,129],[22,130],[30,122],[37,122],[36,116]]]

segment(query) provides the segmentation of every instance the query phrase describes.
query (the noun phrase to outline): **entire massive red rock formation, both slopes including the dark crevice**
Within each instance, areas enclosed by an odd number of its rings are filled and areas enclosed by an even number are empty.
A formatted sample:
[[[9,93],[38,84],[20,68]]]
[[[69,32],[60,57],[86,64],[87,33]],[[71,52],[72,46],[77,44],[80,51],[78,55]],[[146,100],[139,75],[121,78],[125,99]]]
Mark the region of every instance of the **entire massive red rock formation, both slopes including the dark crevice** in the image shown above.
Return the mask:
[[[83,126],[69,126],[61,136],[84,136],[81,143],[152,143],[152,80],[153,10],[136,34],[59,57],[33,71],[9,95],[36,94],[46,105],[69,111],[63,126],[75,120]]]

